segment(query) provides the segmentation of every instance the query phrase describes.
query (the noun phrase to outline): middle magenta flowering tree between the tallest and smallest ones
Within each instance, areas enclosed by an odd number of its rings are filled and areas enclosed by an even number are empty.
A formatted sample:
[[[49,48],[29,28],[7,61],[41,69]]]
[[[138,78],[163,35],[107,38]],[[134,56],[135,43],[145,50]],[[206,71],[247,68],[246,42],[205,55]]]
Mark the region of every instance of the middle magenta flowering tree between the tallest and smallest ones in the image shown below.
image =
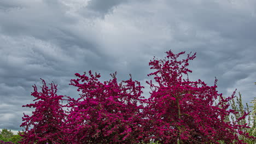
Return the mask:
[[[70,98],[66,121],[69,143],[138,143],[143,140],[141,112],[143,103],[138,81],[98,80],[100,74],[75,76],[69,85],[82,92],[77,100]],[[137,86],[136,86],[137,85]]]

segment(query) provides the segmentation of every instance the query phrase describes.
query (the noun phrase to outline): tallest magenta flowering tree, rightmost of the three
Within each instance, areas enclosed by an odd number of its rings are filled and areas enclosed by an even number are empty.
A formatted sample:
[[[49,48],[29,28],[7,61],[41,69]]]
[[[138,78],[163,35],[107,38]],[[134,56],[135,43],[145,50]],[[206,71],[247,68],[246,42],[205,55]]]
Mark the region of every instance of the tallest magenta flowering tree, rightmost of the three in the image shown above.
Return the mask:
[[[238,135],[248,134],[239,131],[246,124],[239,125],[238,121],[245,119],[248,113],[238,118],[235,123],[225,121],[234,110],[229,110],[228,101],[234,98],[223,98],[216,90],[217,80],[214,86],[207,86],[205,82],[189,81],[188,73],[192,71],[187,68],[188,61],[195,58],[188,54],[186,59],[179,61],[179,56],[185,52],[174,54],[167,51],[167,58],[156,59],[149,62],[150,69],[155,69],[153,75],[158,85],[152,81],[150,85],[152,92],[148,99],[148,106],[144,109],[146,123],[144,133],[148,135],[145,139],[159,141],[160,143],[243,143]],[[184,77],[187,76],[187,79]],[[220,98],[220,102],[214,105],[214,100]]]

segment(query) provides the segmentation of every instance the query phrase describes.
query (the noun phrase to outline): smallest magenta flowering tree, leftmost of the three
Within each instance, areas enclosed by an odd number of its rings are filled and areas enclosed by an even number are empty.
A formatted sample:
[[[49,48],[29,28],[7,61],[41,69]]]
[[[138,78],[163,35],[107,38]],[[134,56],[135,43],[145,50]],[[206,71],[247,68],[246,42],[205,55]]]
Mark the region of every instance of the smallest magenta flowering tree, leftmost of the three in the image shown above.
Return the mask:
[[[20,127],[24,127],[24,133],[20,134],[23,138],[20,143],[23,144],[45,144],[51,143],[63,143],[63,133],[61,127],[63,127],[63,120],[65,119],[65,112],[62,109],[63,96],[57,95],[57,85],[50,83],[50,88],[43,82],[42,92],[37,91],[37,86],[34,85],[34,92],[32,96],[35,97],[34,104],[27,104],[22,107],[33,107],[35,110],[32,112],[32,116],[25,115],[22,117],[24,121]]]

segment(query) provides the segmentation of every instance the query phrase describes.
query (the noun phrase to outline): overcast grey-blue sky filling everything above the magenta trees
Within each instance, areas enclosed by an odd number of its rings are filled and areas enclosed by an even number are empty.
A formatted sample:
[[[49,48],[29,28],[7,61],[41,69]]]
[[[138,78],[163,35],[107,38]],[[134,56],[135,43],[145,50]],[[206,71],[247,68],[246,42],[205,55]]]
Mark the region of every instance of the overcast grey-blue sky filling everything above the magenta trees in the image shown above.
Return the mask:
[[[75,73],[141,81],[149,97],[150,59],[196,52],[190,80],[218,91],[256,95],[255,0],[1,0],[0,128],[21,130],[32,85],[54,81],[57,94],[78,98]],[[238,95],[238,94],[237,94]],[[252,104],[249,104],[252,105]]]

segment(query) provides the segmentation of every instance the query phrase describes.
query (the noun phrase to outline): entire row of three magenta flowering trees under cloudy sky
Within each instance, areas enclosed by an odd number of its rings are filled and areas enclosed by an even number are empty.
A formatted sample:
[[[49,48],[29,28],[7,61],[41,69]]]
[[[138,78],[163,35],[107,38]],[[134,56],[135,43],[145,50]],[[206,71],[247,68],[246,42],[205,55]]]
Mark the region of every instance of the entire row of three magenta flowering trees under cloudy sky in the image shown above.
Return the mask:
[[[69,85],[81,92],[78,99],[57,95],[57,86],[43,81],[42,92],[34,87],[32,96],[36,103],[25,105],[36,108],[32,116],[24,114],[21,127],[25,127],[21,143],[139,143],[159,141],[160,143],[244,143],[238,135],[242,133],[238,121],[245,119],[245,113],[237,122],[225,121],[231,113],[228,101],[214,86],[207,86],[201,80],[184,79],[192,71],[187,67],[196,53],[189,53],[186,59],[167,51],[165,59],[149,62],[155,69],[148,76],[154,76],[152,92],[145,99],[141,96],[140,82],[129,80],[117,82],[117,73],[112,79],[98,80],[100,74],[76,73],[77,79]],[[219,98],[220,102],[214,105]],[[67,101],[66,105],[61,102]],[[64,108],[67,108],[64,111]]]

